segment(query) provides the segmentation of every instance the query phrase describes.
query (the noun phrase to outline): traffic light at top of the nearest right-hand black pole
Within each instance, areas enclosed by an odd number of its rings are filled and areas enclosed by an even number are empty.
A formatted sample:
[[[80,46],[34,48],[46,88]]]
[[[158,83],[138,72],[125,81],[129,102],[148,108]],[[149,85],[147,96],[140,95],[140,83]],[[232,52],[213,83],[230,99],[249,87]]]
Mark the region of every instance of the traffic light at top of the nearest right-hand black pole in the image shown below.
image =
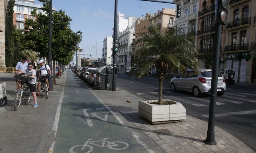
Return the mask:
[[[215,21],[216,24],[226,24],[228,17],[228,0],[216,0]]]

